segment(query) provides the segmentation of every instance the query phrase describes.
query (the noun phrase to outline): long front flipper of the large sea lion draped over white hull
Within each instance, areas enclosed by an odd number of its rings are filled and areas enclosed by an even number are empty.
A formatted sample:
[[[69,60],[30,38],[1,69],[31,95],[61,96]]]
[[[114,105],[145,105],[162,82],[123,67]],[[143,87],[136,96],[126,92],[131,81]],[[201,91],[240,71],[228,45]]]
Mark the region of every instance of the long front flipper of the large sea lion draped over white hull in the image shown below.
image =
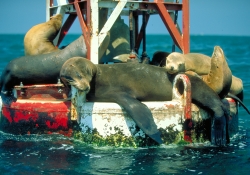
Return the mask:
[[[162,144],[161,134],[157,129],[151,111],[148,107],[137,99],[127,94],[112,94],[116,103],[118,103],[126,113],[133,118],[135,123],[141,128],[145,134]]]

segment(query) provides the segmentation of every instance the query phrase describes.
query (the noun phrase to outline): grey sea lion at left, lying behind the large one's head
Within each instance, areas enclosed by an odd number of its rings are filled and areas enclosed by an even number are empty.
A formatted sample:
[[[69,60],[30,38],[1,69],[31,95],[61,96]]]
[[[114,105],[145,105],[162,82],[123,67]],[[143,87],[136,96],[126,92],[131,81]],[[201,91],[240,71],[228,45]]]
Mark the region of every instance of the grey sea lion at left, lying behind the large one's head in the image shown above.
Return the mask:
[[[63,63],[74,56],[86,57],[86,52],[81,35],[62,50],[11,60],[3,70],[0,80],[3,102],[8,105],[16,100],[12,90],[20,82],[24,85],[57,83]]]

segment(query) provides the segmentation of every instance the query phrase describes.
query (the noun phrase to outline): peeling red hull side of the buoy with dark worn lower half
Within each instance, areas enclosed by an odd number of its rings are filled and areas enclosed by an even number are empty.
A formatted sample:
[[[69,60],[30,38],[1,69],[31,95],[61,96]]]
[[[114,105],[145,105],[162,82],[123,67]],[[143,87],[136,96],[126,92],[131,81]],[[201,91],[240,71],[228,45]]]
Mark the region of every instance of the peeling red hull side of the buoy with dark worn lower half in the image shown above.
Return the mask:
[[[3,130],[15,134],[44,133],[69,130],[70,101],[18,100],[10,106],[3,105],[2,117],[7,119]]]

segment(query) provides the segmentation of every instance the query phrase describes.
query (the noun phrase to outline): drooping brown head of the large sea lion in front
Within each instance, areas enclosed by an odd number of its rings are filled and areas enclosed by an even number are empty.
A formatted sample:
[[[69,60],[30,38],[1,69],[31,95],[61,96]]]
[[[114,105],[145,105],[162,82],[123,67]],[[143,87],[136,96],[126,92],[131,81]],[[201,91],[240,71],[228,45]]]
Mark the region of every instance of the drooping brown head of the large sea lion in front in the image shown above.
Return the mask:
[[[60,71],[64,84],[70,84],[80,91],[88,93],[90,82],[97,71],[96,66],[83,57],[73,57],[67,60]]]

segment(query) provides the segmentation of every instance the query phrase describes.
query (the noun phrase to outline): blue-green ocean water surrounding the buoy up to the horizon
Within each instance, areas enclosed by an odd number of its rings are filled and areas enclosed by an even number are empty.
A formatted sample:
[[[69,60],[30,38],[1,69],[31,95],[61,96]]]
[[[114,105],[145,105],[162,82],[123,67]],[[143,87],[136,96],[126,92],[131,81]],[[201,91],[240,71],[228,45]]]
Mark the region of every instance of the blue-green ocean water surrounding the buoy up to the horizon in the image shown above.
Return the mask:
[[[67,45],[79,35],[68,35]],[[0,72],[24,55],[24,35],[0,35]],[[171,51],[167,35],[148,35],[147,54]],[[191,36],[191,52],[213,53],[219,45],[233,74],[243,80],[250,108],[250,37]],[[178,51],[178,50],[177,50]],[[141,54],[141,50],[139,51]],[[239,132],[223,148],[202,144],[149,148],[95,147],[58,134],[17,136],[0,131],[0,174],[250,174],[250,115],[239,108]]]

